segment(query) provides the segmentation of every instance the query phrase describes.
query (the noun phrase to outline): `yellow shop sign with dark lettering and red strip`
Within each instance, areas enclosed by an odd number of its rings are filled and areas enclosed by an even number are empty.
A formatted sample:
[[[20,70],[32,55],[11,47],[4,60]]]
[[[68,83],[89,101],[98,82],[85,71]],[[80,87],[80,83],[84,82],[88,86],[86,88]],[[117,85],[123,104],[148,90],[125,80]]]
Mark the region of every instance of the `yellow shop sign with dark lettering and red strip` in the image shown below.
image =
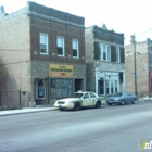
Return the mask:
[[[72,78],[74,76],[73,65],[60,65],[60,64],[50,64],[50,77],[66,77]]]

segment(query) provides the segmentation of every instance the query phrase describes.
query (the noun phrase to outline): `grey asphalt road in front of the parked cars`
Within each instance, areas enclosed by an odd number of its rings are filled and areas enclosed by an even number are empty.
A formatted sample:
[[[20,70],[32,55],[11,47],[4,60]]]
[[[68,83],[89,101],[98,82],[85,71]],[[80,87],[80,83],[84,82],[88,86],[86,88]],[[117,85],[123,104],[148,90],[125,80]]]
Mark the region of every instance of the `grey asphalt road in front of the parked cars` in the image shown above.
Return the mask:
[[[139,152],[143,138],[152,141],[152,101],[0,117],[0,152]]]

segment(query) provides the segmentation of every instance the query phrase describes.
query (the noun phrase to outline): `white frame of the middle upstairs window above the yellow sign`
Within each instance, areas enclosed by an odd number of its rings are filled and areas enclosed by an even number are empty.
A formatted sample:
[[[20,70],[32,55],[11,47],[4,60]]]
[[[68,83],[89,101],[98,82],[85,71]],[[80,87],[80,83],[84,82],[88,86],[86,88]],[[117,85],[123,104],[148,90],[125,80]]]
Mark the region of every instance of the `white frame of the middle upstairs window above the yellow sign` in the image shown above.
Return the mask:
[[[59,45],[59,39],[62,40],[62,46]],[[58,36],[56,37],[56,52],[58,52],[58,56],[65,56],[65,49],[64,49],[64,37],[62,36]],[[59,54],[59,48],[62,48],[62,54]]]

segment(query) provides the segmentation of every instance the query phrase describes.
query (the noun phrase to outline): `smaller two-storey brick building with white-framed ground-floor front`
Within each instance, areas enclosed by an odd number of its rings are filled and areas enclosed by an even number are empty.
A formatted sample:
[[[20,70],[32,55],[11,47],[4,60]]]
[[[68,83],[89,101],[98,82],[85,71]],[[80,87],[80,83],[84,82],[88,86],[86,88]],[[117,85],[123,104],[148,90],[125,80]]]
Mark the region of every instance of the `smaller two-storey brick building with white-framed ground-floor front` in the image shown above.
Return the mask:
[[[85,29],[87,90],[113,94],[125,89],[124,34],[92,26]]]

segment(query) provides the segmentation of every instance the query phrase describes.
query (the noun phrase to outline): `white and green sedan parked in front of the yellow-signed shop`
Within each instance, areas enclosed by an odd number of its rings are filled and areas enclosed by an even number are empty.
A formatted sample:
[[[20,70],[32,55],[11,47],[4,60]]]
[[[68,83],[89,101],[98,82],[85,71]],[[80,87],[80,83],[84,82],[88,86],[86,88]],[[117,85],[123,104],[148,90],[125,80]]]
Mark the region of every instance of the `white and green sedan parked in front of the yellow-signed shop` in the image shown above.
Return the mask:
[[[81,107],[94,106],[100,107],[102,104],[103,97],[99,97],[94,92],[75,92],[71,98],[60,99],[55,101],[54,107],[60,110],[73,109],[75,111]]]

